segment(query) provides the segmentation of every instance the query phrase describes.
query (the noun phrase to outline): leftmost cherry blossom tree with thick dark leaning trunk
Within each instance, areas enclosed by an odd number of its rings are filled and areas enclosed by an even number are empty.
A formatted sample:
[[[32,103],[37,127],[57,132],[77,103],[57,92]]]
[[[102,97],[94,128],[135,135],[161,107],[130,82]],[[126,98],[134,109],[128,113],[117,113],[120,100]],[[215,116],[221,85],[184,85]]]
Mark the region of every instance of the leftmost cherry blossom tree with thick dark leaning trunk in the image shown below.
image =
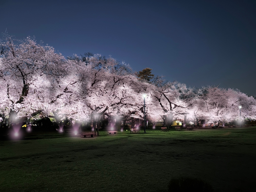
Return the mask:
[[[65,73],[65,58],[55,53],[52,47],[37,44],[31,37],[20,41],[7,36],[1,43],[0,50],[0,81],[10,126],[19,111],[27,107],[24,101],[31,94],[31,84],[42,75],[58,81]]]

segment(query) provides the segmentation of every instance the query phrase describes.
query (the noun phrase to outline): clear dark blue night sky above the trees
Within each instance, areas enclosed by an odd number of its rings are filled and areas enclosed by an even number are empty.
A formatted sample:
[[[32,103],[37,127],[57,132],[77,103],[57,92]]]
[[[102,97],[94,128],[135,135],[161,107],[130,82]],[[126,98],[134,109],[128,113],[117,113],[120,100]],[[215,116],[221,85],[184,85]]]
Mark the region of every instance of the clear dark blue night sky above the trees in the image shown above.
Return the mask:
[[[256,1],[0,0],[0,32],[111,55],[187,86],[256,95]]]

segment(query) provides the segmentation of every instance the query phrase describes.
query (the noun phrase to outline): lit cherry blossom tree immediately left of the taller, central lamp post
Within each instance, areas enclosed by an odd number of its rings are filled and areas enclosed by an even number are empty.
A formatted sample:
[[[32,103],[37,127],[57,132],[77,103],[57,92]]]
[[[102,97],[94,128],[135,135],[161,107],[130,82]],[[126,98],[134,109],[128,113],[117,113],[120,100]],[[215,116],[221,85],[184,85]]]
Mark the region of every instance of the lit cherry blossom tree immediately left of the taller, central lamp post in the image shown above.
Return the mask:
[[[81,98],[91,110],[94,121],[104,115],[109,119],[116,119],[117,127],[120,128],[123,118],[128,117],[128,114],[134,115],[139,110],[135,103],[140,98],[139,86],[135,86],[138,80],[129,65],[119,63],[112,57],[94,55],[87,61],[90,77],[82,83]]]

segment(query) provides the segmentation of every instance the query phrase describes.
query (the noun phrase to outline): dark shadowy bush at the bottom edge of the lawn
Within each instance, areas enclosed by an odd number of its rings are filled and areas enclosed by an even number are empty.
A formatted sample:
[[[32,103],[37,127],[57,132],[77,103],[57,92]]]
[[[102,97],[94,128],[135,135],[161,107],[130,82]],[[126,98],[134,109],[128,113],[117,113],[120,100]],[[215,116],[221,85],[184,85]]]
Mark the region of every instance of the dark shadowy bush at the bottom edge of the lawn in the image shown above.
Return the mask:
[[[212,192],[213,189],[207,182],[189,177],[180,177],[170,180],[168,192]]]

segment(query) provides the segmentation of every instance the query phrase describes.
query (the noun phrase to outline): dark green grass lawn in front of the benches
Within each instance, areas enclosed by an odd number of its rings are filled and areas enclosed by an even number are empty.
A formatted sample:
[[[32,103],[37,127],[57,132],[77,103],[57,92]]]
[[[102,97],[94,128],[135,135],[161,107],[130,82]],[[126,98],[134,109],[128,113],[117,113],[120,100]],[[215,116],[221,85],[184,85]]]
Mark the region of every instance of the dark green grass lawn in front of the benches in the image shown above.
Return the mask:
[[[215,191],[256,191],[256,128],[36,137],[0,141],[1,192],[163,192],[181,176]]]

